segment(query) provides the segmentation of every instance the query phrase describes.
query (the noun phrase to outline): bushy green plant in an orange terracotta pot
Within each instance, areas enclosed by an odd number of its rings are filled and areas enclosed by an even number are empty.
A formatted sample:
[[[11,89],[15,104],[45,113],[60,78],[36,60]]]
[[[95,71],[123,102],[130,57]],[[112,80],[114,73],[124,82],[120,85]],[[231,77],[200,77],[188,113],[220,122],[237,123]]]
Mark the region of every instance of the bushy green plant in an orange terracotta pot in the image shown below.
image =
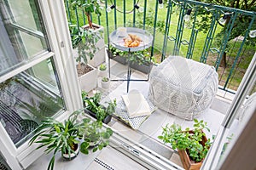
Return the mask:
[[[207,122],[194,120],[194,129],[187,127],[182,130],[181,126],[172,124],[163,127],[162,135],[158,138],[166,144],[171,144],[172,149],[177,149],[185,169],[200,169],[201,163],[207,156],[211,146],[211,140],[207,139],[203,129],[207,129]]]

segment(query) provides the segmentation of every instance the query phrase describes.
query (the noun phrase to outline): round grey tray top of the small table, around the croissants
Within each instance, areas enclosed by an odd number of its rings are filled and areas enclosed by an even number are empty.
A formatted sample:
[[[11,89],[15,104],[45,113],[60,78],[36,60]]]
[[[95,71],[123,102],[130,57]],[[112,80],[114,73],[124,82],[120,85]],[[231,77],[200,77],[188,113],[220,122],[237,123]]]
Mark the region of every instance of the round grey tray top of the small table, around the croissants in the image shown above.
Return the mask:
[[[118,48],[119,50],[122,50],[122,51],[130,50],[131,52],[135,52],[135,51],[141,51],[143,49],[149,48],[152,45],[153,37],[148,31],[140,28],[135,28],[135,27],[126,27],[127,36],[128,34],[137,35],[143,41],[140,42],[138,47],[125,47],[125,42],[124,42],[125,37],[123,36],[120,37],[119,35],[117,35],[117,31],[118,30],[115,30],[109,35],[109,41],[111,42],[114,48]]]

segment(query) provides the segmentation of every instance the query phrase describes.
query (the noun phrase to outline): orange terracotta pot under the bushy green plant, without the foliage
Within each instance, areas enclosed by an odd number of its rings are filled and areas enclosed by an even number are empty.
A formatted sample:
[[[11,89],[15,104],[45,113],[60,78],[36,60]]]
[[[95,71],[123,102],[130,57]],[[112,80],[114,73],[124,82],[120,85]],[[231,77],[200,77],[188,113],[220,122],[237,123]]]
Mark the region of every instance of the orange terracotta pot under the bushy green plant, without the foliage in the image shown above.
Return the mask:
[[[189,131],[189,133],[194,133],[194,132]],[[207,142],[207,137],[203,136],[201,144],[205,145],[206,142]],[[178,151],[178,155],[181,158],[181,161],[183,162],[183,167],[186,170],[199,170],[200,169],[202,161],[200,161],[200,162],[191,161],[189,154],[187,153],[186,150],[177,150],[177,151]]]

